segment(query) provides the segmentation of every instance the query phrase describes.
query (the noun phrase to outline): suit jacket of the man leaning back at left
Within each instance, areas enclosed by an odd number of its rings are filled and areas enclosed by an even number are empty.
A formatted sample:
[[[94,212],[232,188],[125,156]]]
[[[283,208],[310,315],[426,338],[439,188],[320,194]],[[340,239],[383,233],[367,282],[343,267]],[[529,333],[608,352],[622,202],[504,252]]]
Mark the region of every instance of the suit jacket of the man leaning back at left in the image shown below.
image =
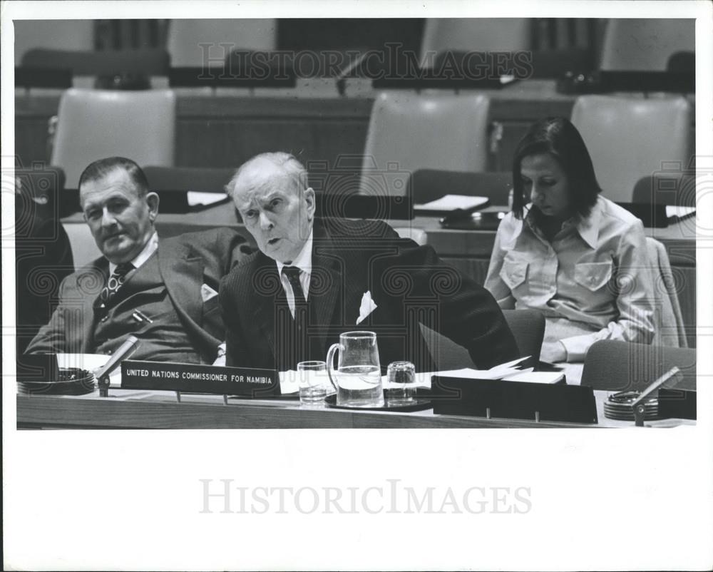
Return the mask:
[[[158,242],[158,265],[180,322],[204,362],[212,362],[225,328],[217,297],[203,302],[201,286],[217,290],[220,279],[240,262],[245,239],[227,228],[187,233]],[[91,353],[93,302],[108,276],[108,260],[98,258],[66,277],[50,322],[41,328],[27,353]]]

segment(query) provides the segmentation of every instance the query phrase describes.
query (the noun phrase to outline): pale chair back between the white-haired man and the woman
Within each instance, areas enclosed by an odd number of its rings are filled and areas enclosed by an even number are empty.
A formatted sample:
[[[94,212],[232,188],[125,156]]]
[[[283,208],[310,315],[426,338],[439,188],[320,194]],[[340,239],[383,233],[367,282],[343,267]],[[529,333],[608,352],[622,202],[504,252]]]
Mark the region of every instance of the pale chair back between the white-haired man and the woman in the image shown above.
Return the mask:
[[[359,192],[406,195],[419,168],[486,170],[489,103],[474,93],[382,92],[371,109]]]

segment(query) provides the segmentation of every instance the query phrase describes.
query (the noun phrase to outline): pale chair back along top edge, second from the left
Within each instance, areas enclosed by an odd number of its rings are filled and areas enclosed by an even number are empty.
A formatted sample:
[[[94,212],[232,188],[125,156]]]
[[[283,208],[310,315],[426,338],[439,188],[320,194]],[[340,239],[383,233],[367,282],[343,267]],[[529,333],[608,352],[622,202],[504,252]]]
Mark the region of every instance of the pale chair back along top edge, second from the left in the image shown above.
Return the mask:
[[[228,44],[221,46],[220,44]],[[277,48],[276,19],[171,20],[168,26],[171,66],[222,68],[235,48],[270,51]]]

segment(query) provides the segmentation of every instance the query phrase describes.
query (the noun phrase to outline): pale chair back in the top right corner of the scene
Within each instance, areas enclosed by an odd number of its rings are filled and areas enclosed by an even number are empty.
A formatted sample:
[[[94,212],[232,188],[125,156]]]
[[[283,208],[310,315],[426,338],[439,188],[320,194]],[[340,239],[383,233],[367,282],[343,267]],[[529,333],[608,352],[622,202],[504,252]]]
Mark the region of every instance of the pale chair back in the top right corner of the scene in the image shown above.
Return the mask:
[[[694,19],[612,18],[602,39],[600,69],[665,71],[672,54],[695,50]]]

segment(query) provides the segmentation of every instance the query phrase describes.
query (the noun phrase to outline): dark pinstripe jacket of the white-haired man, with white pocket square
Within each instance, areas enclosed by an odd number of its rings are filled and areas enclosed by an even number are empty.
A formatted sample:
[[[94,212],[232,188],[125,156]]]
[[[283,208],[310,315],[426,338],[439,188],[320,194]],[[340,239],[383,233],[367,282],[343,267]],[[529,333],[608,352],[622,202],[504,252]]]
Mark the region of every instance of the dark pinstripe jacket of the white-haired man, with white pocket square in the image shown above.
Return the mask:
[[[327,228],[326,225],[329,225]],[[377,307],[356,325],[364,292]],[[227,364],[275,368],[283,297],[275,261],[255,252],[220,285]],[[379,221],[316,223],[309,288],[308,359],[324,359],[339,334],[377,334],[381,367],[407,359],[420,371],[436,364],[419,322],[466,347],[478,367],[518,357],[512,332],[483,287],[443,264],[431,247],[401,239]],[[294,369],[296,364],[292,364]]]

